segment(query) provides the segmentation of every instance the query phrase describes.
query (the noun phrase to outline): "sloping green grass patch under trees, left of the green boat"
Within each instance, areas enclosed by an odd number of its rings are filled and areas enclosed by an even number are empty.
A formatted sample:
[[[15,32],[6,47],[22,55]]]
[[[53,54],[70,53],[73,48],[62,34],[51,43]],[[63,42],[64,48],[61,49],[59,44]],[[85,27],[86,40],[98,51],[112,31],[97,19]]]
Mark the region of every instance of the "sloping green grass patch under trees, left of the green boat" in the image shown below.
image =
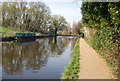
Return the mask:
[[[13,28],[7,28],[7,27],[0,26],[0,36],[2,37],[10,37],[10,36],[13,36],[17,32],[21,32],[21,31],[15,30]]]

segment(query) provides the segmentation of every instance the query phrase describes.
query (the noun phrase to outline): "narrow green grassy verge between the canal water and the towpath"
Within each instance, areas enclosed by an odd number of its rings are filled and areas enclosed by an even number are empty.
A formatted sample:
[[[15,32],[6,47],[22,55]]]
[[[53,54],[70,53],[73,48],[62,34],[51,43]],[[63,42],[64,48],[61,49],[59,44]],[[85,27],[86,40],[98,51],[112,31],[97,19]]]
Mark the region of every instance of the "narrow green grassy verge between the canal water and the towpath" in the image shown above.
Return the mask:
[[[67,79],[78,79],[78,72],[80,68],[79,59],[79,39],[77,40],[73,50],[72,50],[72,56],[70,60],[70,64],[65,67],[64,72],[62,74],[63,81]]]

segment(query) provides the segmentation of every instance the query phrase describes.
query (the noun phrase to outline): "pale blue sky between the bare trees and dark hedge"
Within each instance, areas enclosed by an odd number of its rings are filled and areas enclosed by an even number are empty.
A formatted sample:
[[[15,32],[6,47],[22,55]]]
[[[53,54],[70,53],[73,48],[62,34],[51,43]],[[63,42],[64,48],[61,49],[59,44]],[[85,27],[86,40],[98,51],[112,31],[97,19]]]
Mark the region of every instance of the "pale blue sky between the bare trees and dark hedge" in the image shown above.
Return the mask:
[[[74,3],[75,0],[42,0],[48,7],[50,7],[52,15],[59,14],[66,18],[70,23],[79,21],[82,18],[81,4]]]

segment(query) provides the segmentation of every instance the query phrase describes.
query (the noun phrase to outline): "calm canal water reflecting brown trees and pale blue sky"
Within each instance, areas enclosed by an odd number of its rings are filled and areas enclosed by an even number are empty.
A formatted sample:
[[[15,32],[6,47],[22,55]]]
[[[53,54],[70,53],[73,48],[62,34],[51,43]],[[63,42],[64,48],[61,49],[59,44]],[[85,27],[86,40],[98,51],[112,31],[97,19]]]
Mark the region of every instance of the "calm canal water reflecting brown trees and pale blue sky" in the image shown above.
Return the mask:
[[[2,79],[60,79],[77,38],[2,43]]]

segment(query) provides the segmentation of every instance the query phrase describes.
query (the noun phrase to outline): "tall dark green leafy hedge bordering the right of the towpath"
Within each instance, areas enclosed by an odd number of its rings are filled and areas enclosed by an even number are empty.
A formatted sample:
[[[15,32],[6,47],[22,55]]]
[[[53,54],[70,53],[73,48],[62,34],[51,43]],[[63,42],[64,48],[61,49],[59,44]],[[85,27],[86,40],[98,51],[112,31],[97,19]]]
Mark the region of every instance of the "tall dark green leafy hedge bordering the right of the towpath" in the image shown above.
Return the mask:
[[[96,29],[93,37],[95,50],[103,51],[108,65],[120,78],[120,2],[83,2],[83,26]]]

